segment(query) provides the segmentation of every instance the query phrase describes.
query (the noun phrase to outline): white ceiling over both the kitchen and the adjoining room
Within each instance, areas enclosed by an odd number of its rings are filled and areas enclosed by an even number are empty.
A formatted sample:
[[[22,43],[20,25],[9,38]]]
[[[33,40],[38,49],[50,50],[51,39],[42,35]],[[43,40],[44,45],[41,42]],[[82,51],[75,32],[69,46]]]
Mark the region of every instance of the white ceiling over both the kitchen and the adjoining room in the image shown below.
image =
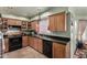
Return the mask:
[[[76,17],[87,17],[87,7],[69,7]],[[15,17],[32,18],[53,9],[52,7],[0,7],[0,13]]]

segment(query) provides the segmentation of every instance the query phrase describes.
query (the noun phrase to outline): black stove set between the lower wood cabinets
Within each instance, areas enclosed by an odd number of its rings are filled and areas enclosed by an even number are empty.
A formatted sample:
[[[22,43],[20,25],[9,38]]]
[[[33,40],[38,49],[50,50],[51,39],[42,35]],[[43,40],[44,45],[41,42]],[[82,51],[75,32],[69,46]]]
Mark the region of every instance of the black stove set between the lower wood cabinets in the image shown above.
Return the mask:
[[[22,48],[22,36],[12,35],[9,36],[9,52]]]

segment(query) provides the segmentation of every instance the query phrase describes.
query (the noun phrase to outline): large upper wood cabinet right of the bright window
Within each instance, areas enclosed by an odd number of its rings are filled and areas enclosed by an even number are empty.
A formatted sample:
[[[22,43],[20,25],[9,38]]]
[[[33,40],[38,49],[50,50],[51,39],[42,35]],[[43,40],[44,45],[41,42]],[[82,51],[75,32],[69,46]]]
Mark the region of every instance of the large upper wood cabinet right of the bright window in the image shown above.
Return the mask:
[[[66,31],[66,12],[50,15],[50,31]]]

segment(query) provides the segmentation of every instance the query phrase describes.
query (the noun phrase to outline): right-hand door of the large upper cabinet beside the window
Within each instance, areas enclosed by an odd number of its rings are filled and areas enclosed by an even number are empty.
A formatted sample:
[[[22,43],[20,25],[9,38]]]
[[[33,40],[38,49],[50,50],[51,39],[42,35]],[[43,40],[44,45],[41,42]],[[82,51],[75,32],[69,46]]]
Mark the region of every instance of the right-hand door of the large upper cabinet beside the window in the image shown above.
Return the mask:
[[[58,13],[55,15],[55,26],[57,31],[66,30],[65,12]]]

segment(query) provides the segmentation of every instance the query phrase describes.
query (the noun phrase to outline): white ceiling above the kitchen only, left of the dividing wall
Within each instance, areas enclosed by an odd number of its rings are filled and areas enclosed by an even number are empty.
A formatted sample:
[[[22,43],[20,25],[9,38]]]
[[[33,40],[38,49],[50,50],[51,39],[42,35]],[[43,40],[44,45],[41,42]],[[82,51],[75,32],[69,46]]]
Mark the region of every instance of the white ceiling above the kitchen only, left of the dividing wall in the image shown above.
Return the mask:
[[[50,9],[51,7],[0,7],[0,13],[32,18]]]

